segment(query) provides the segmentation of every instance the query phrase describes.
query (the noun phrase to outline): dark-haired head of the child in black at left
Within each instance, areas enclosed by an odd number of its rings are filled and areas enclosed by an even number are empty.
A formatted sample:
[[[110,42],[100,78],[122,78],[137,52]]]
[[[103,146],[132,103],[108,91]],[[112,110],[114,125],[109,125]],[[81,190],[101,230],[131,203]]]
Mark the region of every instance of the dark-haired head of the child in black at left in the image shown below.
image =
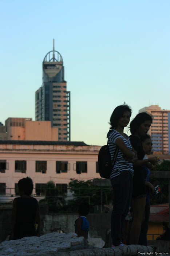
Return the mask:
[[[22,195],[27,195],[30,196],[32,194],[33,190],[33,182],[31,178],[23,178],[19,180],[18,182],[18,188],[19,188],[19,194],[20,196]]]

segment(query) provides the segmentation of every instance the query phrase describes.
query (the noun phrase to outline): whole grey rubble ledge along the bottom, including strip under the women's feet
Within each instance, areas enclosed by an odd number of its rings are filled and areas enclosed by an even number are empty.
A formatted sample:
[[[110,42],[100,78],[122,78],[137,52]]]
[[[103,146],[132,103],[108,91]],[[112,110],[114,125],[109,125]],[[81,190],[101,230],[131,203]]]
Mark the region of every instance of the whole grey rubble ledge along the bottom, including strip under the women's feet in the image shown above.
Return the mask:
[[[138,252],[153,252],[150,246],[124,245],[114,248],[89,248],[83,237],[75,233],[48,233],[40,237],[24,237],[3,241],[1,256],[131,256]]]

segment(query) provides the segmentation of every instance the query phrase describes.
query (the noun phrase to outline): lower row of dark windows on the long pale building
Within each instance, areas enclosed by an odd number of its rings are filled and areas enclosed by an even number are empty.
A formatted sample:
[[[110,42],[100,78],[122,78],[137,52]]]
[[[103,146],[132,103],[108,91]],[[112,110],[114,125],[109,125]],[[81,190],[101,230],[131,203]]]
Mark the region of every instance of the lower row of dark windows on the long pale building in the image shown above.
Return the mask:
[[[60,193],[67,193],[67,184],[65,183],[56,183],[56,187],[59,190]],[[8,188],[9,190],[10,188]],[[18,190],[18,184],[15,183],[15,189],[10,189],[11,191],[10,194],[15,193],[15,195],[19,195],[19,190]],[[6,183],[0,183],[0,195],[5,195],[6,194]],[[32,195],[36,196],[45,196],[46,195],[46,183],[36,183],[35,184],[35,189],[32,191]]]

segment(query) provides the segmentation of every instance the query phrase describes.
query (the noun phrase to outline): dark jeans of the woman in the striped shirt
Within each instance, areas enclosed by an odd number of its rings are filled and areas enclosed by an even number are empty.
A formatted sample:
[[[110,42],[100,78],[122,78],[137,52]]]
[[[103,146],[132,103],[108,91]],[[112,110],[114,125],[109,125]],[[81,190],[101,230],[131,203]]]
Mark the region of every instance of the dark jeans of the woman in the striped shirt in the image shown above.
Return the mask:
[[[128,171],[123,171],[120,175],[111,179],[114,192],[111,237],[112,244],[115,246],[124,240],[124,222],[131,204],[132,178]]]

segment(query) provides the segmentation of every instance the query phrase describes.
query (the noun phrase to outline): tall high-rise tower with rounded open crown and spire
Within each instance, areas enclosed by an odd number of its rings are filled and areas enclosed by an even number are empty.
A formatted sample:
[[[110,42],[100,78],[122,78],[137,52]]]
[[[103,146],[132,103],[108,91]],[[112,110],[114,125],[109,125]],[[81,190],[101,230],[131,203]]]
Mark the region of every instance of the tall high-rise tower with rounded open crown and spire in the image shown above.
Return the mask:
[[[43,85],[35,93],[35,120],[51,121],[59,128],[59,140],[70,141],[70,91],[64,80],[63,58],[48,52],[43,60]]]

